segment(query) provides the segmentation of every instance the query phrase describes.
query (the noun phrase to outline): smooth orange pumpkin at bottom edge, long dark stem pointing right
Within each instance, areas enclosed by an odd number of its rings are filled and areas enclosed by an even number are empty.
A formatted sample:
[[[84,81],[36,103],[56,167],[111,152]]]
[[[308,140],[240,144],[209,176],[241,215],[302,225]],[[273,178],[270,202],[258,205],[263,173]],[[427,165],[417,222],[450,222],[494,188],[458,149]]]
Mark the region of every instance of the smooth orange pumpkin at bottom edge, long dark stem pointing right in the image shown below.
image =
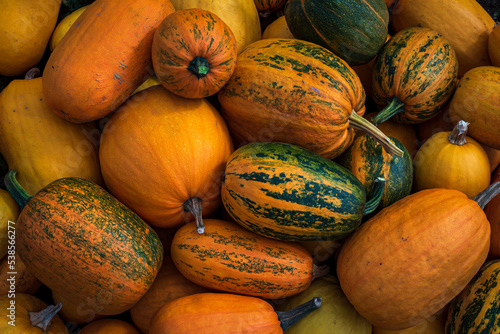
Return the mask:
[[[282,334],[321,306],[315,297],[301,306],[275,311],[258,297],[231,293],[198,293],[165,304],[151,320],[150,333]]]

